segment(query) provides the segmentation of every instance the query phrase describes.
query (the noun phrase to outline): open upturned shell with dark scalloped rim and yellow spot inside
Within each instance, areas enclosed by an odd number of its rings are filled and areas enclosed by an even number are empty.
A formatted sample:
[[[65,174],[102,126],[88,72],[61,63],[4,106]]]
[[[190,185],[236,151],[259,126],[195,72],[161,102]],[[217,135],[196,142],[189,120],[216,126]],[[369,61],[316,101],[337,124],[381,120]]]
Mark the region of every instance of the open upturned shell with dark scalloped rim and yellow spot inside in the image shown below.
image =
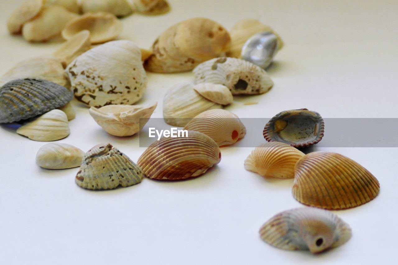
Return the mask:
[[[263,136],[268,142],[306,147],[322,140],[324,121],[319,113],[308,109],[282,111],[265,125]]]

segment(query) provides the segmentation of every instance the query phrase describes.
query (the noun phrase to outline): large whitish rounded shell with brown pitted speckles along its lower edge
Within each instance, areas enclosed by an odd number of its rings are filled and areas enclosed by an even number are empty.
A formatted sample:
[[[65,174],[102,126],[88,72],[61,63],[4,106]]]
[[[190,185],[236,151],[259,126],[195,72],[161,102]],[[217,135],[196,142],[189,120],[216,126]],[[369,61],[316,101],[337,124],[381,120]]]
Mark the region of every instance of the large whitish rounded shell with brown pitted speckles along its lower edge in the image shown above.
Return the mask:
[[[68,67],[76,99],[92,106],[131,105],[146,90],[140,49],[131,41],[111,41],[86,51]]]

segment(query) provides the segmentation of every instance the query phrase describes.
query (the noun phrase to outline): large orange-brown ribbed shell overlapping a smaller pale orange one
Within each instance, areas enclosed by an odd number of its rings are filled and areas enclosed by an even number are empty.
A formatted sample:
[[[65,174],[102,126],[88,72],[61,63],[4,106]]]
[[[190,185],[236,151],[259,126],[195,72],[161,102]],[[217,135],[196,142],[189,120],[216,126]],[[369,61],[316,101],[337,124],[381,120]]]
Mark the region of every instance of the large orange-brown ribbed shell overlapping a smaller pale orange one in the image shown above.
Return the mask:
[[[378,195],[377,179],[357,162],[336,153],[313,152],[295,166],[293,197],[305,205],[340,210]]]

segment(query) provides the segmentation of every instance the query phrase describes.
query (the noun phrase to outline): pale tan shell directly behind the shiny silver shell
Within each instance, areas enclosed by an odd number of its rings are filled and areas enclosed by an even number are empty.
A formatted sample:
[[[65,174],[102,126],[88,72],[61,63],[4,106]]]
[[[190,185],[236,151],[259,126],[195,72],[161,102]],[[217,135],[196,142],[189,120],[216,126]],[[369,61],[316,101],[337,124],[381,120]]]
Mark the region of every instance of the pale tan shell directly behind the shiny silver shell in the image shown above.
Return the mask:
[[[228,57],[240,58],[242,47],[250,37],[260,32],[271,32],[277,37],[278,51],[283,47],[281,37],[271,27],[264,25],[256,19],[242,19],[229,31],[231,35],[231,49]]]

